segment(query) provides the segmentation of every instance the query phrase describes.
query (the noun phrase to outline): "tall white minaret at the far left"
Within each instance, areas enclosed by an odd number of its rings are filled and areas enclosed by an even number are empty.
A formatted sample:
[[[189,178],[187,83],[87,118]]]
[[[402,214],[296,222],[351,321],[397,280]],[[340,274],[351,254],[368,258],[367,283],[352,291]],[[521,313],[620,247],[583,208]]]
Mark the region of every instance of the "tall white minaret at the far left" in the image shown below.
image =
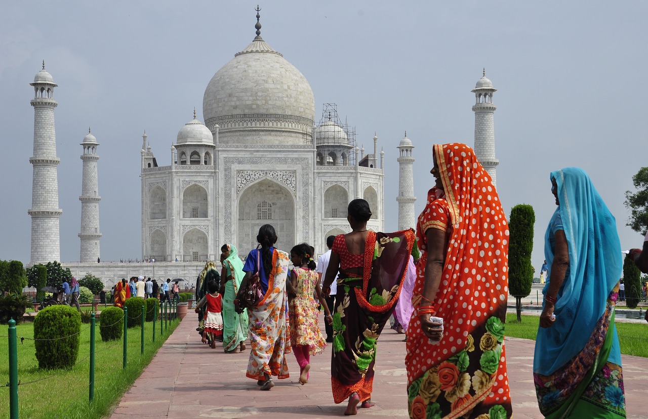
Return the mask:
[[[56,166],[56,131],[54,130],[54,83],[51,74],[43,69],[36,74],[34,98],[34,157],[29,163],[34,167],[32,177],[32,208],[27,213],[32,218],[31,264],[53,262],[61,258],[59,218],[63,211],[58,207],[58,175]]]

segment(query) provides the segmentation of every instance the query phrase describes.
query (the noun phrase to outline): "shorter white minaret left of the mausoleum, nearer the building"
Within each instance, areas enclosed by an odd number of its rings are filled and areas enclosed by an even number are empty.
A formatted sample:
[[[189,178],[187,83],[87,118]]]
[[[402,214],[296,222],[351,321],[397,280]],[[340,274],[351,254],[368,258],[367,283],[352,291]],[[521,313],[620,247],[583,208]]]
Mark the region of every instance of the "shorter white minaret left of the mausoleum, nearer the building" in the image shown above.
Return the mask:
[[[81,180],[81,232],[78,234],[81,239],[81,262],[95,262],[99,258],[99,197],[97,179],[97,147],[99,143],[94,135],[87,130],[84,137],[83,154],[83,175]]]

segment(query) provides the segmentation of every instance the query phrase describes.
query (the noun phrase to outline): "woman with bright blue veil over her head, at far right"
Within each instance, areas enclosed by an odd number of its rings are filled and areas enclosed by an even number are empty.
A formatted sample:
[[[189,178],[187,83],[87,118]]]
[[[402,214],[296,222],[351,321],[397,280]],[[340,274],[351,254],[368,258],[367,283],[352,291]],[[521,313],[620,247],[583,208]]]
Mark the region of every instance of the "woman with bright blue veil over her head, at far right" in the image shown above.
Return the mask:
[[[551,172],[558,208],[545,234],[549,266],[533,357],[547,418],[625,418],[614,306],[621,277],[616,221],[580,168]]]

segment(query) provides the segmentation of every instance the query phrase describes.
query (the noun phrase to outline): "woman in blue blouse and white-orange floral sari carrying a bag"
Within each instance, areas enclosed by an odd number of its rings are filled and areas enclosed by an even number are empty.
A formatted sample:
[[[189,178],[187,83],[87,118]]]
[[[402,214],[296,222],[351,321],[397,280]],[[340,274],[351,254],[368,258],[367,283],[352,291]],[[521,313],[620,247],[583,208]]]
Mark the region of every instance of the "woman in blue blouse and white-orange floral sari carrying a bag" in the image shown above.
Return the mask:
[[[250,251],[243,271],[246,273],[240,289],[245,289],[249,278],[259,273],[259,284],[263,298],[255,307],[248,308],[249,341],[252,350],[249,354],[246,376],[257,380],[261,390],[275,386],[272,376],[288,378],[286,354],[290,353],[290,334],[286,324],[288,295],[288,254],[275,249],[277,234],[274,227],[264,224],[259,229],[257,242],[260,249]],[[242,300],[240,289],[237,295]],[[288,291],[292,287],[288,286]]]

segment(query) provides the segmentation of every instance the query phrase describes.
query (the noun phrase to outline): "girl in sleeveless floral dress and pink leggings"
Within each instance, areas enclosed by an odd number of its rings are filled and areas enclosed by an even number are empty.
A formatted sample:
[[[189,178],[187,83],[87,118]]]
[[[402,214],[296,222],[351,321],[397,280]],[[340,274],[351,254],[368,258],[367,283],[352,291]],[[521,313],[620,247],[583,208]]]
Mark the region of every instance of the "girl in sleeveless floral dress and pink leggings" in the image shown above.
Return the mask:
[[[290,251],[290,261],[295,269],[290,273],[290,282],[294,288],[294,295],[289,295],[290,319],[290,345],[297,358],[300,374],[299,383],[308,383],[308,370],[310,370],[310,356],[322,352],[326,341],[319,329],[318,302],[324,308],[326,321],[332,324],[329,307],[322,295],[319,286],[316,264],[312,258],[313,249],[306,243],[296,245]]]

